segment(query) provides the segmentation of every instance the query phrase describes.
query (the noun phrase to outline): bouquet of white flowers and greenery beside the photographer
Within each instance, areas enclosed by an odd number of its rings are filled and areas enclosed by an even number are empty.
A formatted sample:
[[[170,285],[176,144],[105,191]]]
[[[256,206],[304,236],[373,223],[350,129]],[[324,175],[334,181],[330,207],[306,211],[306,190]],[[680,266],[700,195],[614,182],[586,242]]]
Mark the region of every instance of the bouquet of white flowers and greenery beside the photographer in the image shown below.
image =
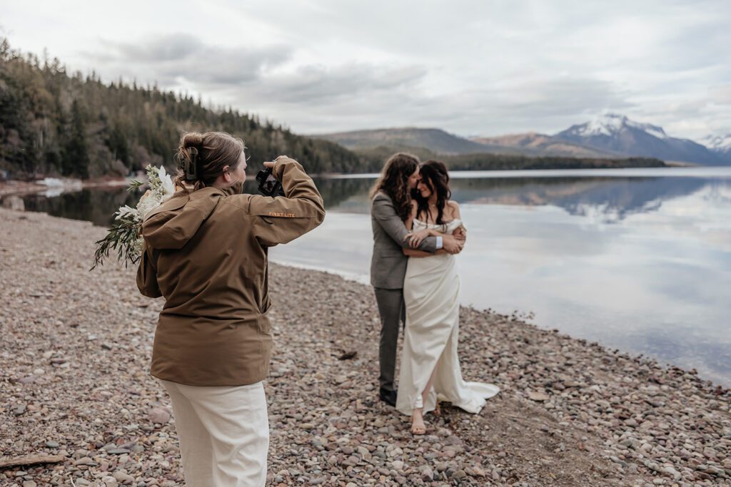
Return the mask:
[[[94,267],[104,264],[104,259],[109,257],[110,250],[117,251],[117,261],[123,261],[124,265],[137,264],[142,255],[142,223],[145,217],[156,207],[167,202],[170,196],[175,193],[175,185],[170,175],[165,172],[163,166],[147,166],[149,189],[143,194],[137,206],[132,208],[128,205],[119,207],[112,228],[107,231],[107,236],[96,242],[94,253]],[[127,191],[135,191],[142,188],[144,183],[132,180]]]

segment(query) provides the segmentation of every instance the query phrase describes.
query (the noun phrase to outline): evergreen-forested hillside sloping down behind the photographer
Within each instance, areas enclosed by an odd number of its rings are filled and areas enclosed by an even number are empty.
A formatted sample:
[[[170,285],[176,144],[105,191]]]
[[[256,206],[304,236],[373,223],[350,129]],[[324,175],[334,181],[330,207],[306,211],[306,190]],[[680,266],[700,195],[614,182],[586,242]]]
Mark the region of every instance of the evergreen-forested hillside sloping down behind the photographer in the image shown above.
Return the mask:
[[[156,86],[69,75],[58,59],[41,62],[0,39],[0,169],[12,177],[120,176],[148,164],[175,169],[181,133],[191,130],[241,137],[252,172],[280,154],[312,173],[363,172],[360,156],[333,142],[292,134],[257,115],[211,110]]]

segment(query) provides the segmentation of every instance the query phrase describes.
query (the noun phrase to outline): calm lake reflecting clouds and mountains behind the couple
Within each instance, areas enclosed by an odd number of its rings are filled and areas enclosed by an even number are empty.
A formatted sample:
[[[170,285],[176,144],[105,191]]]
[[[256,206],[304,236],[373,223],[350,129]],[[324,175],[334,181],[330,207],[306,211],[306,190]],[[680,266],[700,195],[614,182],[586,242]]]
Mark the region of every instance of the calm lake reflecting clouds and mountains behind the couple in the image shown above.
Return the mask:
[[[373,182],[318,179],[325,223],[271,259],[367,283]],[[463,304],[731,386],[731,168],[461,172],[451,186],[469,230]],[[120,188],[23,197],[28,210],[103,226],[136,198]]]

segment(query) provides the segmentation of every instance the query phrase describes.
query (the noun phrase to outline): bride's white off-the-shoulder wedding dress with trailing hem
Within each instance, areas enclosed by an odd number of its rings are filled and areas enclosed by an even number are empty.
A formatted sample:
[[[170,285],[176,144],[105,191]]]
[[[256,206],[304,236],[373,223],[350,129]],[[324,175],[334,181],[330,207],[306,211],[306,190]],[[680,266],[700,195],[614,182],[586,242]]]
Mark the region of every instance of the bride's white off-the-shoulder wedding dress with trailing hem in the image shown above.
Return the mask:
[[[461,224],[459,219],[444,225],[414,219],[413,230],[436,229],[451,234]],[[500,391],[493,384],[465,382],[462,378],[457,355],[459,291],[455,256],[409,258],[404,279],[406,329],[396,400],[396,409],[401,413],[411,415],[415,407],[423,407],[428,413],[436,406],[437,394],[440,400],[468,413],[480,413],[485,399]],[[434,367],[433,388],[426,404],[422,404],[421,393]]]

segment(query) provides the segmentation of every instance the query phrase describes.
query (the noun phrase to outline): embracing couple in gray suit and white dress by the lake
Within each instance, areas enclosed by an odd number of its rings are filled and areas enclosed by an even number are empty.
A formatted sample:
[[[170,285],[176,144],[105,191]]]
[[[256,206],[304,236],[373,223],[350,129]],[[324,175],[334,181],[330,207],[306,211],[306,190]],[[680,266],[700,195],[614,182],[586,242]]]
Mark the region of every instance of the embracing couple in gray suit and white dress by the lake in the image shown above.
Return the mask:
[[[457,355],[460,281],[455,254],[466,241],[459,206],[442,162],[420,164],[396,153],[371,190],[374,250],[371,285],[381,315],[379,396],[425,434],[423,415],[439,399],[479,413],[497,386],[465,382]],[[394,386],[398,329],[404,348]]]

